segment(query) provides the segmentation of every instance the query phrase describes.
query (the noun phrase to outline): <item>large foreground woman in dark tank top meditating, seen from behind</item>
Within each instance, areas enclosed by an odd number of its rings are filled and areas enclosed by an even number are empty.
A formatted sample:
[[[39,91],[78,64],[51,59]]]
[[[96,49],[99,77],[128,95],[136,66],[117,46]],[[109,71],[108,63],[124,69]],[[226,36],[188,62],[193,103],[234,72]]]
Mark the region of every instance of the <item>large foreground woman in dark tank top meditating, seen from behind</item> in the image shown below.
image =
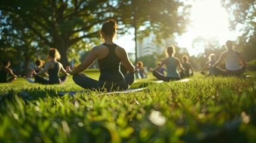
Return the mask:
[[[67,72],[73,75],[73,81],[77,85],[90,90],[122,91],[128,89],[134,82],[134,66],[129,61],[127,52],[124,48],[113,43],[116,27],[116,21],[106,21],[101,27],[104,43],[92,48],[88,57],[76,69],[66,68]],[[88,69],[96,59],[100,68],[98,80],[81,73]],[[128,71],[125,75],[120,70],[121,63]]]

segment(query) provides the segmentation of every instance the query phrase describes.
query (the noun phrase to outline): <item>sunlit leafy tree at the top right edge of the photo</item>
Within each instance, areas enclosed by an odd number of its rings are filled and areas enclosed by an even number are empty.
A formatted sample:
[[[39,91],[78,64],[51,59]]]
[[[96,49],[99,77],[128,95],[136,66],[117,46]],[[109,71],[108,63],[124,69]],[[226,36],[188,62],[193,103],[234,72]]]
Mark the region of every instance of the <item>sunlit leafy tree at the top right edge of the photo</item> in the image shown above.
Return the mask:
[[[242,24],[242,36],[239,37],[238,49],[245,59],[255,59],[256,54],[256,1],[254,0],[222,0],[230,15],[230,29],[235,30]]]

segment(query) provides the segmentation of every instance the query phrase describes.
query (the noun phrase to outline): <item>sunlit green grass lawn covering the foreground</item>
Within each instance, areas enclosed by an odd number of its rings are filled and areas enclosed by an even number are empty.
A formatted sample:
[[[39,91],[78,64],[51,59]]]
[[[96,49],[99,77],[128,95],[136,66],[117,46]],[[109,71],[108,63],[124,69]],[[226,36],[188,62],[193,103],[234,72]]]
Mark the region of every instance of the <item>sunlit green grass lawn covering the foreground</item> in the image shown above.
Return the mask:
[[[256,141],[256,77],[152,80],[136,80],[131,88],[148,87],[141,92],[75,97],[57,95],[82,90],[71,76],[64,85],[1,84],[0,142]]]

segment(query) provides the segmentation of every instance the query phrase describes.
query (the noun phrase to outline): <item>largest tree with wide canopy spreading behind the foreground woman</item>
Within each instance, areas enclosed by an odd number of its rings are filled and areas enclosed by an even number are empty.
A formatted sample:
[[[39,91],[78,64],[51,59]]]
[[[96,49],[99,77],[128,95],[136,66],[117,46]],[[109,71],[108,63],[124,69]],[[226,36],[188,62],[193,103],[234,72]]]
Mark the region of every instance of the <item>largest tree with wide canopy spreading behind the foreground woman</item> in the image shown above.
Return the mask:
[[[110,18],[121,25],[121,33],[144,26],[146,30],[138,31],[141,35],[152,30],[162,36],[183,32],[189,20],[187,7],[169,0],[9,0],[0,2],[0,11],[10,21],[19,20],[32,38],[44,43],[42,48],[57,48],[63,66],[68,65],[69,49],[100,39],[100,26]],[[10,32],[17,26],[11,24]]]

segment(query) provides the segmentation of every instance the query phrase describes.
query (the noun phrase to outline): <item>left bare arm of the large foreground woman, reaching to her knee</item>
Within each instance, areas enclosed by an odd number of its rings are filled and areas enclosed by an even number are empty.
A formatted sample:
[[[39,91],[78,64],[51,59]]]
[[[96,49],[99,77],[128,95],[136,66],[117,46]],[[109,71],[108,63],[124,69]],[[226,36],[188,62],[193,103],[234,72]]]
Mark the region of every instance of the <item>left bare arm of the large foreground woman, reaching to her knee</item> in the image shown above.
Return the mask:
[[[85,58],[85,60],[81,64],[79,64],[74,70],[70,70],[70,67],[67,67],[67,73],[73,75],[81,73],[82,71],[86,70],[88,67],[91,66],[92,63],[94,63],[94,61],[98,57],[99,50],[100,49],[98,48],[98,46],[92,48],[87,58]]]

